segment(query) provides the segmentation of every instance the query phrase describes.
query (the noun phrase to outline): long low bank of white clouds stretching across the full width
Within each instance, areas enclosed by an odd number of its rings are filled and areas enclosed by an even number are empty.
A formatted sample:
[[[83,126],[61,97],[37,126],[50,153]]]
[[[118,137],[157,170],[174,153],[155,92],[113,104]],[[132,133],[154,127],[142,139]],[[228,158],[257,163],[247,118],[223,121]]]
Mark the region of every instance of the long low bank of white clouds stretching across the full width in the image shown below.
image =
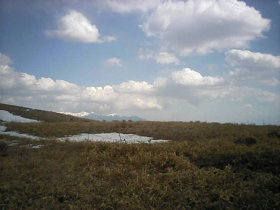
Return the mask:
[[[195,105],[221,98],[275,104],[280,101],[279,94],[236,86],[220,77],[202,76],[190,68],[172,71],[166,77],[155,78],[152,83],[129,80],[120,84],[83,87],[62,79],[36,78],[14,71],[9,65],[0,65],[0,79],[1,102],[31,104],[57,111],[72,111],[75,107],[95,112],[163,110],[176,99]]]

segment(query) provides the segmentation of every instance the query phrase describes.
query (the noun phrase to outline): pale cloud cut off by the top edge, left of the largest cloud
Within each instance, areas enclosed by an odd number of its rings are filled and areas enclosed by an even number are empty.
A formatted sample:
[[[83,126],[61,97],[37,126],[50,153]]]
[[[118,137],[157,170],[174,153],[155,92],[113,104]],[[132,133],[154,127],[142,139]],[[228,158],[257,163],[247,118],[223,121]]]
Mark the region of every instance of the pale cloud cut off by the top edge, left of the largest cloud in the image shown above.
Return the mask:
[[[161,0],[98,0],[99,5],[112,11],[125,13],[132,11],[145,12],[154,8]]]

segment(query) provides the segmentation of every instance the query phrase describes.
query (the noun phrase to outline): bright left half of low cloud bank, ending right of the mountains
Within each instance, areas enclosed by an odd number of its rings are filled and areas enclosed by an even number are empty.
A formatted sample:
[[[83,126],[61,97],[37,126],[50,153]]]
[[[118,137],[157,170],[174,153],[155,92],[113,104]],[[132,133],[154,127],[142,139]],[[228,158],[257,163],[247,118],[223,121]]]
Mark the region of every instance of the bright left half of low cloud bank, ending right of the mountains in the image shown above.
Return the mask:
[[[0,80],[1,102],[48,104],[49,107],[62,109],[81,105],[97,111],[162,108],[156,98],[142,94],[152,89],[152,85],[145,81],[82,87],[62,79],[36,78],[14,71],[8,65],[0,65]]]

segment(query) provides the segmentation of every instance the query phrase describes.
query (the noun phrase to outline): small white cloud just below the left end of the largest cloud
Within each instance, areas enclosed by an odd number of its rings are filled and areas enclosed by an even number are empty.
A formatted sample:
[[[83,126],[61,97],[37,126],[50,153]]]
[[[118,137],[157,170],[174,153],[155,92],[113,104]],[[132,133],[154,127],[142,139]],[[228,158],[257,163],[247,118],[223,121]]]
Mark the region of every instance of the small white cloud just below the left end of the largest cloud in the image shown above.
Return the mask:
[[[166,51],[154,52],[153,50],[143,50],[142,48],[138,51],[139,59],[154,59],[158,63],[179,63],[179,59],[172,53]]]

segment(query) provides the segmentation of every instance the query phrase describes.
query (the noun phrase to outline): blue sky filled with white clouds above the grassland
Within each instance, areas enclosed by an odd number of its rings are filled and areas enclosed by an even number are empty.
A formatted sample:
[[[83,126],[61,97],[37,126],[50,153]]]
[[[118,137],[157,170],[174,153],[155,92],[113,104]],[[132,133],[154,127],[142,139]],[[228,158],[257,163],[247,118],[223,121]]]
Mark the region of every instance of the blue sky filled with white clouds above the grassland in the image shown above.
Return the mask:
[[[0,0],[0,102],[280,124],[278,0]]]

